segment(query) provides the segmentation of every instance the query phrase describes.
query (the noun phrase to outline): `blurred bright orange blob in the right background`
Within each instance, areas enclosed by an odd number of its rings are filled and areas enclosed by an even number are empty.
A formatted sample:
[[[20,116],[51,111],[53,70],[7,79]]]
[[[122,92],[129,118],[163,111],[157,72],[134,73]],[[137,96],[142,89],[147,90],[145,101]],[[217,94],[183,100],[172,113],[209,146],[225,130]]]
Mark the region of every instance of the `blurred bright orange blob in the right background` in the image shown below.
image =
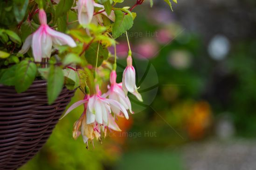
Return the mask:
[[[187,131],[191,139],[197,140],[205,136],[212,119],[211,108],[208,102],[197,102],[188,117]]]

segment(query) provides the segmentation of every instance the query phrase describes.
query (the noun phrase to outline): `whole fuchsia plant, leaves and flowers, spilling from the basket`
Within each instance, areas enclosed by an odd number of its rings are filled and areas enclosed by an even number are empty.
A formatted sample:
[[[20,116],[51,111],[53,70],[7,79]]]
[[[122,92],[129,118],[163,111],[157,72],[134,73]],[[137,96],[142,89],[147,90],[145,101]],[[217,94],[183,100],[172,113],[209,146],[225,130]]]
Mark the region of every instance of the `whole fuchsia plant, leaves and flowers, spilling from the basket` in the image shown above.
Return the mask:
[[[134,1],[132,7],[123,8],[116,7],[123,0],[30,0],[24,4],[0,1],[0,7],[4,3],[15,6],[3,12],[9,17],[0,16],[0,25],[6,28],[0,29],[0,84],[15,86],[20,93],[35,79],[45,79],[49,105],[64,86],[80,89],[83,100],[71,105],[64,116],[83,105],[73,137],[82,135],[87,145],[94,138],[105,137],[107,129],[121,131],[116,118],[128,119],[128,113],[133,113],[128,92],[143,101],[136,86],[127,36],[136,17],[132,10],[144,2]],[[122,82],[118,83],[116,39],[123,33],[129,52]],[[114,55],[108,51],[110,46],[115,47]],[[106,72],[110,73],[110,85],[102,94],[99,86],[108,81]]]

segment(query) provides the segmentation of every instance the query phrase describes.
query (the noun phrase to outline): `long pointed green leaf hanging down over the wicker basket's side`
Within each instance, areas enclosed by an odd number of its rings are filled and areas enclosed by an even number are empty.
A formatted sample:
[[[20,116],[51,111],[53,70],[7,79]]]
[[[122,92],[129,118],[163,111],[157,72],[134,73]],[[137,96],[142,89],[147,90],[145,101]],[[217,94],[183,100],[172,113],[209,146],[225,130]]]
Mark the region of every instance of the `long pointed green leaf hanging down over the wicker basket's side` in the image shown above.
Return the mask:
[[[49,105],[53,104],[56,98],[58,98],[62,92],[63,84],[64,75],[62,69],[58,66],[51,65],[47,79],[47,97]]]

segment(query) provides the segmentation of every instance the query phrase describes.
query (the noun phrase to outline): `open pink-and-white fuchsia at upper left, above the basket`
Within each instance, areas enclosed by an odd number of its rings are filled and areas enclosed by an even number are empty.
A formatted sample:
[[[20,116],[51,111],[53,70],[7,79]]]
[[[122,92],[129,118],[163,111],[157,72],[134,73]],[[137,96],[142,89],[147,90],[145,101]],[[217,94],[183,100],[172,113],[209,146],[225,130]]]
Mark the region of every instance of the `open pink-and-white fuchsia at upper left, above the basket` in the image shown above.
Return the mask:
[[[24,54],[28,52],[29,47],[32,46],[35,61],[41,62],[42,58],[50,58],[52,46],[69,45],[76,47],[75,41],[70,36],[57,32],[47,25],[46,13],[43,9],[39,10],[39,20],[41,26],[35,33],[28,36],[20,53]]]

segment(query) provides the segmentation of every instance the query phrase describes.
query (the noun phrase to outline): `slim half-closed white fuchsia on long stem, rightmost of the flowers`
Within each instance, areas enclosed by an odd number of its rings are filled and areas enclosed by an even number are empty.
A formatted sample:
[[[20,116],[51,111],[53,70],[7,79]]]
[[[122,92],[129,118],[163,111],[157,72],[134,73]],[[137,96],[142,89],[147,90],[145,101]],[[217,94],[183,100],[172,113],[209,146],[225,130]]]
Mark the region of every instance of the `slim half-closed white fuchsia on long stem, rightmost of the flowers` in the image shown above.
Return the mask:
[[[127,66],[123,73],[122,86],[126,96],[128,92],[131,92],[139,101],[143,101],[136,86],[136,73],[134,67],[132,66],[131,56],[127,57]]]

